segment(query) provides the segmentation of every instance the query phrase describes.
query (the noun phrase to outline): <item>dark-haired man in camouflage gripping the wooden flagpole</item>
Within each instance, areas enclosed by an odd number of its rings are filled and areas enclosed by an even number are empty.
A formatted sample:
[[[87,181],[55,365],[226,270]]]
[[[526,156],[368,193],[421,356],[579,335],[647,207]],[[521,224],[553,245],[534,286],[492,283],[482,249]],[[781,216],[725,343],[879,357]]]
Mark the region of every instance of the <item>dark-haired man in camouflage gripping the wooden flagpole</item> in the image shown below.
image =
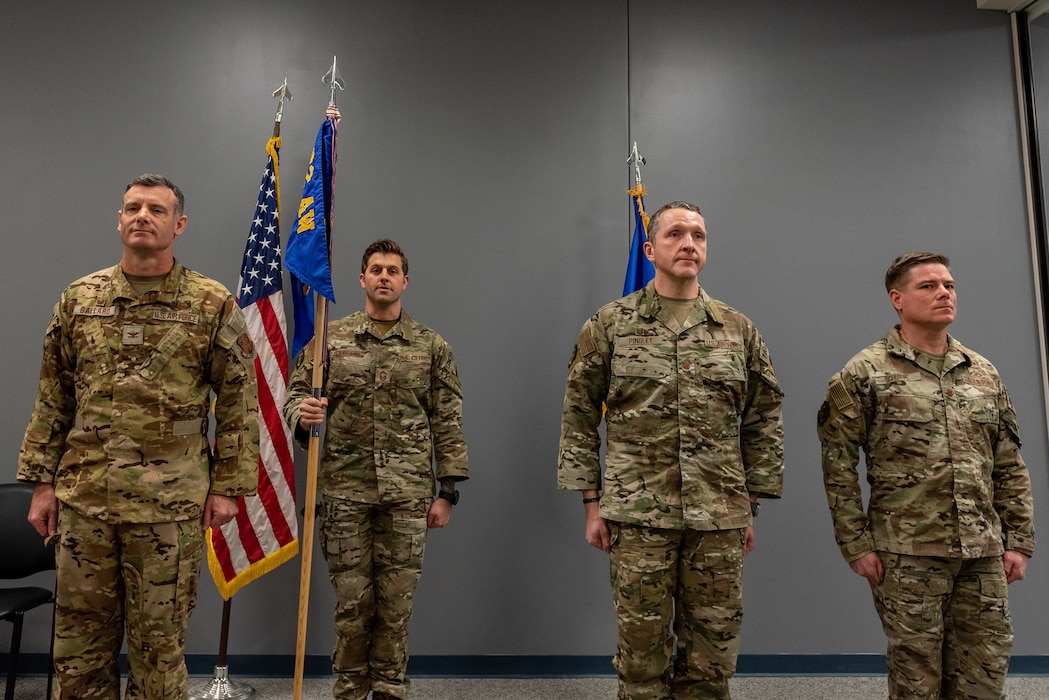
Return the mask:
[[[408,259],[387,238],[361,259],[364,310],[327,331],[323,398],[313,397],[318,338],[299,354],[284,418],[305,444],[325,421],[320,540],[336,593],[335,697],[408,697],[408,620],[427,528],[443,528],[467,479],[463,390],[451,346],[401,309]],[[436,465],[437,497],[431,463]]]

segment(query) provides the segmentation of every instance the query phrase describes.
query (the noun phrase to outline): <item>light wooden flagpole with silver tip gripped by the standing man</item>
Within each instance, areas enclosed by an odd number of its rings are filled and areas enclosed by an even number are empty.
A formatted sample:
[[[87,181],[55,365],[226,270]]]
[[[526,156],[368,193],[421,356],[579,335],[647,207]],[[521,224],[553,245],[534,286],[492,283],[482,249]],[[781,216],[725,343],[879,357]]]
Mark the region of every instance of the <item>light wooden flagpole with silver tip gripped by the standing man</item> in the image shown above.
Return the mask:
[[[339,119],[339,108],[336,107],[335,102],[335,91],[336,88],[344,89],[345,83],[342,77],[339,75],[339,69],[337,67],[337,59],[333,57],[331,68],[328,70],[321,82],[331,88],[331,96],[328,99],[327,116],[328,119]],[[335,136],[333,135],[331,144],[331,179],[335,181]],[[328,218],[330,219],[330,212],[335,210],[335,192],[333,187],[331,198],[328,201]],[[330,220],[326,221],[328,224],[327,234],[328,240],[330,241],[331,229]],[[330,262],[330,248],[328,248],[329,262]],[[327,362],[326,351],[327,351],[327,299],[324,295],[314,291],[316,299],[314,300],[314,374],[313,374],[313,390],[314,398],[321,399],[323,397],[324,388],[324,365]],[[305,671],[306,661],[306,622],[309,617],[309,577],[313,571],[313,559],[314,559],[314,522],[316,519],[317,510],[317,468],[320,461],[320,425],[313,425],[309,427],[309,442],[306,449],[306,496],[305,496],[305,513],[302,518],[302,572],[299,577],[299,625],[298,634],[295,639],[295,688],[294,688],[294,699],[301,700],[302,698],[302,677]]]

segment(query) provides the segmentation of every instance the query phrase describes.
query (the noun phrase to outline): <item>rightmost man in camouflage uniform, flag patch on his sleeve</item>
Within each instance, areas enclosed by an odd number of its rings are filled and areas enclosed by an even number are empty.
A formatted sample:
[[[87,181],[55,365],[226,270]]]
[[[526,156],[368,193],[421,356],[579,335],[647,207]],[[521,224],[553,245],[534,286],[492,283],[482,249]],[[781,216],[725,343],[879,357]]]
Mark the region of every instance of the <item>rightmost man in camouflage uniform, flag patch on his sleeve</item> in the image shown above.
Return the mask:
[[[885,289],[900,323],[831,378],[819,409],[835,536],[870,581],[892,698],[1005,697],[1006,587],[1034,552],[1016,416],[994,366],[947,334],[948,264],[932,253],[893,261]]]

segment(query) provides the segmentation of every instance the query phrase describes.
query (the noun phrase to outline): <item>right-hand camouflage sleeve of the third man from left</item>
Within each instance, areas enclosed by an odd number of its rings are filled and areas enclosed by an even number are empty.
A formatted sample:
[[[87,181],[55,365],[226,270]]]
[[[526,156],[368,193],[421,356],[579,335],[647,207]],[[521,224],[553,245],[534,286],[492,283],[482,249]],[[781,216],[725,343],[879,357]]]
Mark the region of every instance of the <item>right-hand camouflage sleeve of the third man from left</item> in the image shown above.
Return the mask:
[[[740,422],[740,448],[747,490],[778,499],[784,489],[784,394],[769,348],[756,331],[749,342],[747,405]]]

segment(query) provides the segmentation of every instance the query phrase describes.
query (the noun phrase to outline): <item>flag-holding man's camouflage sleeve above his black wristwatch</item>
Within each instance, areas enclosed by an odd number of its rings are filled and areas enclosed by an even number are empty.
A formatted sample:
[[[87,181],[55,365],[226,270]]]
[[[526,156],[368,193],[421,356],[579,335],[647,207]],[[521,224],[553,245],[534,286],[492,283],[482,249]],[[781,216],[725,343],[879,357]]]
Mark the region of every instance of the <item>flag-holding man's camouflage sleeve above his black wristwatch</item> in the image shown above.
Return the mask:
[[[441,340],[433,351],[430,374],[430,434],[437,480],[469,478],[466,438],[463,437],[463,386],[451,346]]]

